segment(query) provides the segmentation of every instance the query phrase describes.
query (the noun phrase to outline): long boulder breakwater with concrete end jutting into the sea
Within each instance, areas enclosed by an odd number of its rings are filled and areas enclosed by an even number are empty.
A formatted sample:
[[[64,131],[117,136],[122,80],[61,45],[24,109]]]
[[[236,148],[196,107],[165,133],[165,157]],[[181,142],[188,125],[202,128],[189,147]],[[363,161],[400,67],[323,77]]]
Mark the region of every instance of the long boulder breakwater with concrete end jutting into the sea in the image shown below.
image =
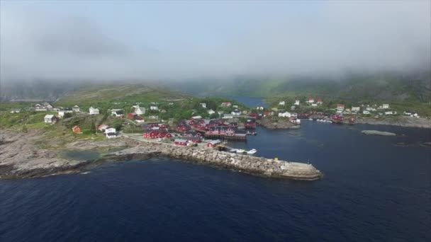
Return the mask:
[[[322,177],[320,171],[306,163],[274,161],[273,159],[233,154],[214,149],[198,149],[152,142],[145,142],[140,146],[118,151],[108,159],[136,159],[142,156],[167,156],[274,178],[317,180]]]

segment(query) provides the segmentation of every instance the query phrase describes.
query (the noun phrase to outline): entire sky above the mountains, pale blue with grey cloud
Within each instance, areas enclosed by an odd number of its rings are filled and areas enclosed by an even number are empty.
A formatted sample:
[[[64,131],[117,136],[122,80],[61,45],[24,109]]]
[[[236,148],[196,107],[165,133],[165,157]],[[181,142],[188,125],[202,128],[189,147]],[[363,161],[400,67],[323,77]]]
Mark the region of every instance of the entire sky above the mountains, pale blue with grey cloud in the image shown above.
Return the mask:
[[[431,69],[431,1],[0,1],[0,81]]]

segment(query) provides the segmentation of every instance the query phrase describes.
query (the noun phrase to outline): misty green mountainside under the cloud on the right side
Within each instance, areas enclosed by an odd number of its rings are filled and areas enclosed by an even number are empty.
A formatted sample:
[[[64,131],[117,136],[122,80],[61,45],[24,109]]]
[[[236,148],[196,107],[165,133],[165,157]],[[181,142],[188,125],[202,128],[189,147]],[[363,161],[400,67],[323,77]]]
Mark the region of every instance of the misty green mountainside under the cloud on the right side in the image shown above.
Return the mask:
[[[428,103],[431,75],[350,75],[343,79],[239,78],[229,81],[189,81],[177,86],[196,96],[252,96],[264,98],[313,96],[347,101]]]

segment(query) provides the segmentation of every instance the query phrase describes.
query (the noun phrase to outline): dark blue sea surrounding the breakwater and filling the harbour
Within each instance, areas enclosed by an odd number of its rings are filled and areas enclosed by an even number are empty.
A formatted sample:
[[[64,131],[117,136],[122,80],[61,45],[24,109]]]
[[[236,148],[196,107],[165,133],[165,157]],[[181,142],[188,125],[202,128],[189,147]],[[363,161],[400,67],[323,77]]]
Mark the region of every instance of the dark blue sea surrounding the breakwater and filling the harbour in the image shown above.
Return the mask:
[[[376,137],[362,129],[399,134]],[[0,241],[430,241],[431,129],[258,127],[231,146],[310,162],[322,180],[260,178],[173,159],[0,180]]]

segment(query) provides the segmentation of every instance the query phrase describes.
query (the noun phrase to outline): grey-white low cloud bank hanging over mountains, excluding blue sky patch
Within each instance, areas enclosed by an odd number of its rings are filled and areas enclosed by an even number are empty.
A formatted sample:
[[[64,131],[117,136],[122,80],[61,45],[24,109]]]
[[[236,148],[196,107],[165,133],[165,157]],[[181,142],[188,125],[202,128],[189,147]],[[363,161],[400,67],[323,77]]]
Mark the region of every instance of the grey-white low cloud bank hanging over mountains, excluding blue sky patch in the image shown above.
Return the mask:
[[[0,79],[229,79],[430,71],[430,1],[323,3],[313,16],[256,19],[223,36],[223,42],[208,45],[190,36],[189,43],[172,41],[166,50],[110,36],[91,19],[2,7]]]

